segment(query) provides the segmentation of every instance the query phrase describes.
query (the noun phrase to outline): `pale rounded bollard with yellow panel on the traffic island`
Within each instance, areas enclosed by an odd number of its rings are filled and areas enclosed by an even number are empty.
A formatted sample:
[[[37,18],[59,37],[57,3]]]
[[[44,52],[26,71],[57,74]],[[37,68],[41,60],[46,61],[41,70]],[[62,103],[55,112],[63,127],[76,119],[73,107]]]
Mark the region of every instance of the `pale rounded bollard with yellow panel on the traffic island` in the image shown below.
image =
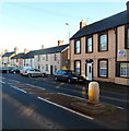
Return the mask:
[[[90,82],[89,84],[89,103],[98,104],[99,102],[99,84]]]

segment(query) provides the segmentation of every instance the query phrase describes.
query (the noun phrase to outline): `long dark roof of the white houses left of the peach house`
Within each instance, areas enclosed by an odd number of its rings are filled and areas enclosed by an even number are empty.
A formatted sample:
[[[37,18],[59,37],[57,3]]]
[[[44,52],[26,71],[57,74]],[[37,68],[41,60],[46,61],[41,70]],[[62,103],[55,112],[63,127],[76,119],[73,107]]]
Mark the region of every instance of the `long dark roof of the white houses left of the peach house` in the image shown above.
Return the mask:
[[[51,48],[46,48],[46,49],[40,49],[40,50],[33,50],[33,51],[27,52],[23,58],[28,59],[28,58],[34,58],[35,55],[46,55],[46,53],[61,52],[68,46],[69,46],[69,44],[62,45],[62,46],[57,46],[57,47],[51,47]]]

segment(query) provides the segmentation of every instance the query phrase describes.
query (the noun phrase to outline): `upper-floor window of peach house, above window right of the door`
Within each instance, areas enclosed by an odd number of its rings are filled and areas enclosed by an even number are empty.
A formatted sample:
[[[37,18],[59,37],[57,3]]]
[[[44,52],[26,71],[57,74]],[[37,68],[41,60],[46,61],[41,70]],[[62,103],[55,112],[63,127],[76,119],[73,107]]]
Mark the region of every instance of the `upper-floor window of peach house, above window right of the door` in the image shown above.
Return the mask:
[[[98,50],[99,51],[107,51],[107,34],[99,35],[99,45],[98,45]]]

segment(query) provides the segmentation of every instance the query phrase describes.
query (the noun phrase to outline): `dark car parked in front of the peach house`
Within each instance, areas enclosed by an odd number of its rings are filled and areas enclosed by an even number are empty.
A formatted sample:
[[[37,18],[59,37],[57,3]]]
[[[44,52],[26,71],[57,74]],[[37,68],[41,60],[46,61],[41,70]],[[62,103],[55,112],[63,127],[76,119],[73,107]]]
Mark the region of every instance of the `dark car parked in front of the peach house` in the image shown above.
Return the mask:
[[[71,70],[59,70],[55,74],[55,80],[58,81],[66,81],[68,83],[72,82],[84,82],[84,78],[77,74],[74,71]]]

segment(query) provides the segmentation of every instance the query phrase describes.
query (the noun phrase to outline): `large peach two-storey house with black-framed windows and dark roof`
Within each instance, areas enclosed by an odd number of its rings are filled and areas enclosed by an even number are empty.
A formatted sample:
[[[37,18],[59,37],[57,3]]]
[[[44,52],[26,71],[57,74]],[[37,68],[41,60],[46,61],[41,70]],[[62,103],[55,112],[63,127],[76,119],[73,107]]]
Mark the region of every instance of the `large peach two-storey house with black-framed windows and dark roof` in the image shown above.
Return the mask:
[[[120,13],[80,23],[70,38],[70,63],[86,80],[129,85],[129,2]]]

